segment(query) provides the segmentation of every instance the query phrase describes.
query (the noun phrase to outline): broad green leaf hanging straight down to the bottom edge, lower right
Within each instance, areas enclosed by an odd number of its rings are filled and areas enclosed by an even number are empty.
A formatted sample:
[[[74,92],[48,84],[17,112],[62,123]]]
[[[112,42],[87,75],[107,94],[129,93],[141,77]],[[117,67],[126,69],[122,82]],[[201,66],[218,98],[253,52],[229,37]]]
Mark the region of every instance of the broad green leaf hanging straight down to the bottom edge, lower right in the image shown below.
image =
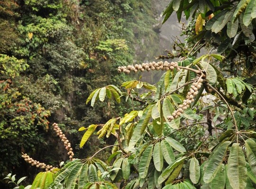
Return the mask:
[[[233,189],[245,189],[247,168],[243,149],[234,143],[231,147],[228,159],[229,183]]]

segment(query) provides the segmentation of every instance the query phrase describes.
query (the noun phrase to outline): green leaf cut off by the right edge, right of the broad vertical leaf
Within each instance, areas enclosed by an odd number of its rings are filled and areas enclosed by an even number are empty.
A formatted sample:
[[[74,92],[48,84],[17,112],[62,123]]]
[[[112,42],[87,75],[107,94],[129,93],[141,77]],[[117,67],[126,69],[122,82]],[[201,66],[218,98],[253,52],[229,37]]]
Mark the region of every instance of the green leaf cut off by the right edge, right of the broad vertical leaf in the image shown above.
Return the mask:
[[[252,172],[256,175],[256,142],[249,138],[245,141],[246,156]]]

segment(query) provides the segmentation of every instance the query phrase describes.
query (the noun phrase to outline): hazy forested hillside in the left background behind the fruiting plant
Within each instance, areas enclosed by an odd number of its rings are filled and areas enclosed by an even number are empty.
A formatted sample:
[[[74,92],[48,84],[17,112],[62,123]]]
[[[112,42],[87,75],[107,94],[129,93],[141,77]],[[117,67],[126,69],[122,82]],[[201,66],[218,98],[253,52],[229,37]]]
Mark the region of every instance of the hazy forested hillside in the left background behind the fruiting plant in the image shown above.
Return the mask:
[[[54,122],[76,144],[77,157],[106,145],[95,137],[80,150],[78,128],[104,122],[129,106],[110,102],[92,108],[86,98],[95,87],[129,78],[116,69],[133,62],[135,48],[148,51],[143,45],[157,37],[153,24],[150,0],[0,2],[1,179],[9,172],[37,173],[22,152],[56,165],[67,160],[50,129]]]

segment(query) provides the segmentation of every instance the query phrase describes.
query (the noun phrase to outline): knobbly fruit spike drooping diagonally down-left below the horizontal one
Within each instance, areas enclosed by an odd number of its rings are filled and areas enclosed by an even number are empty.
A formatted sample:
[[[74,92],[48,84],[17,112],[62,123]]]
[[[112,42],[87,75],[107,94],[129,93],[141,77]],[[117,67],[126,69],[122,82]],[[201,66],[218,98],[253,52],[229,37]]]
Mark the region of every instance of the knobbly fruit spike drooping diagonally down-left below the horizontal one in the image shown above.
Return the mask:
[[[186,99],[179,105],[178,110],[175,110],[171,116],[167,116],[168,121],[178,118],[185,110],[187,110],[187,108],[190,107],[190,104],[194,102],[194,97],[198,94],[198,89],[202,86],[202,82],[203,79],[199,78],[197,82],[192,83],[192,86],[186,95]]]

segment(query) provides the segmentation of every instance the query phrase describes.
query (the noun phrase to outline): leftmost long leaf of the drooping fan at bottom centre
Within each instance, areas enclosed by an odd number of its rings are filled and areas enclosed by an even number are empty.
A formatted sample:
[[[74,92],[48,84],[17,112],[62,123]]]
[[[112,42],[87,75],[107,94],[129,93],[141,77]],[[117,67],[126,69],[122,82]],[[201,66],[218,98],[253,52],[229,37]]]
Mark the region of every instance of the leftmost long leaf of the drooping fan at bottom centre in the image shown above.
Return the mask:
[[[153,145],[149,145],[149,146],[147,146],[146,150],[143,152],[143,154],[140,158],[138,172],[139,172],[139,176],[142,179],[146,178],[150,160],[152,158],[152,152],[153,152]]]

